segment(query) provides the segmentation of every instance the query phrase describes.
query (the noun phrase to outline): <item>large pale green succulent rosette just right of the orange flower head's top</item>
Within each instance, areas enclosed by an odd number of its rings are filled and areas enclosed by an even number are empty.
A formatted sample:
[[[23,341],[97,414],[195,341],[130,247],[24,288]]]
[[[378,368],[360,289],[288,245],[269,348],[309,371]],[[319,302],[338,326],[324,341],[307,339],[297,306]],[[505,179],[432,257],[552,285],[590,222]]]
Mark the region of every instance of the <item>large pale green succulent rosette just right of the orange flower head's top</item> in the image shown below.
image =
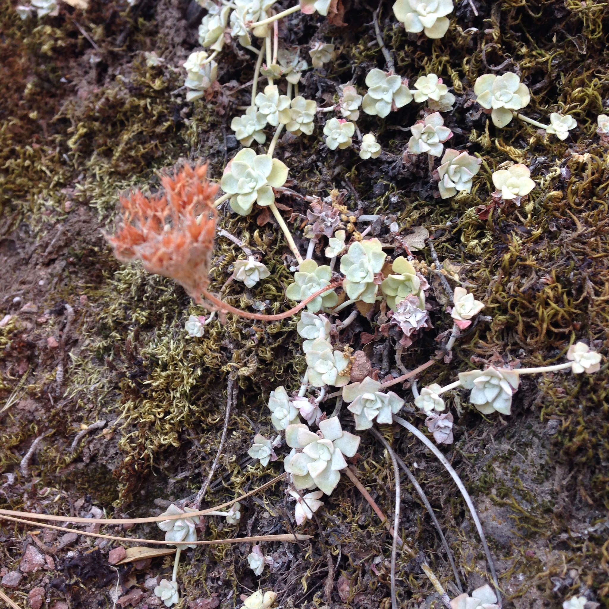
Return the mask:
[[[244,148],[233,157],[224,169],[220,188],[230,198],[230,206],[241,216],[247,216],[256,202],[270,205],[275,202],[272,186],[283,186],[287,180],[287,167],[266,154],[257,155]]]

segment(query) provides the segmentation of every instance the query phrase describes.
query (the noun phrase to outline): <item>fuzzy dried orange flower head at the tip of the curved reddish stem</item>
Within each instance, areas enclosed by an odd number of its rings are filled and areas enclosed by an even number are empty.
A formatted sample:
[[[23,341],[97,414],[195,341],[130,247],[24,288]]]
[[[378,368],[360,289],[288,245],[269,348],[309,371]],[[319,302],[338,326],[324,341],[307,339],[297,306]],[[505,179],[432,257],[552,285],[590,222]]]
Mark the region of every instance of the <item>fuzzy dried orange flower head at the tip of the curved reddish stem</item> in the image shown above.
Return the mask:
[[[161,178],[162,196],[139,190],[121,197],[122,223],[104,234],[122,262],[141,260],[150,273],[177,281],[195,302],[209,285],[209,265],[216,234],[218,186],[207,180],[207,165],[188,165]]]

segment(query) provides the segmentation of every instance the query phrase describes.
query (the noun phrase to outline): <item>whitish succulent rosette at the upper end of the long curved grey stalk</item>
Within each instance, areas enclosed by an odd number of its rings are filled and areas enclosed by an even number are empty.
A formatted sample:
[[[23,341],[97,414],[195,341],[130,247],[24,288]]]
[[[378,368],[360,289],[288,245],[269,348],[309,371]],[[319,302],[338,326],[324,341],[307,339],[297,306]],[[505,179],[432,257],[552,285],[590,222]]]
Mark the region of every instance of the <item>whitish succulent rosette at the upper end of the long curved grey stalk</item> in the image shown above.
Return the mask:
[[[367,376],[362,382],[354,382],[343,387],[343,400],[350,404],[348,410],[353,412],[355,429],[370,429],[372,421],[390,425],[392,414],[397,414],[404,406],[404,400],[392,391],[382,393],[381,383]]]

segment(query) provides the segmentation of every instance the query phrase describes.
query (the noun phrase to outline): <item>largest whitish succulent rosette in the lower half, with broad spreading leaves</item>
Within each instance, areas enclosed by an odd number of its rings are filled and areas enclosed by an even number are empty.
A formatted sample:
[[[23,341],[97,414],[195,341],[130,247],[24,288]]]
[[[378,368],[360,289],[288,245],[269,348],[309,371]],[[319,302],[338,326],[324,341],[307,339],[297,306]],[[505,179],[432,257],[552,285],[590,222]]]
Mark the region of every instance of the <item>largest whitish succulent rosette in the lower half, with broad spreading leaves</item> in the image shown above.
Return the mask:
[[[330,495],[340,481],[340,470],[347,467],[345,456],[354,456],[359,440],[359,436],[343,431],[338,417],[320,421],[317,434],[302,423],[289,425],[286,443],[292,452],[284,460],[284,468],[292,474],[298,490],[317,486]]]

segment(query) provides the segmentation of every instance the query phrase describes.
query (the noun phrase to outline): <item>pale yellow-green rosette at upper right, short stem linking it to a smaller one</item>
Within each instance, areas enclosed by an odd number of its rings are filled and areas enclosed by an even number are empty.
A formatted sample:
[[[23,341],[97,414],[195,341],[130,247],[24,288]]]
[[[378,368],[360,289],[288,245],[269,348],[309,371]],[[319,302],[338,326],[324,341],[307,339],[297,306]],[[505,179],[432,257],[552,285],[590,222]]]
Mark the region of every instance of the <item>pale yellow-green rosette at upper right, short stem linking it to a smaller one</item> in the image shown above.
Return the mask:
[[[502,76],[484,74],[474,84],[476,101],[491,111],[495,127],[505,127],[512,121],[512,110],[521,110],[530,102],[529,88],[520,82],[518,74],[507,72]]]

